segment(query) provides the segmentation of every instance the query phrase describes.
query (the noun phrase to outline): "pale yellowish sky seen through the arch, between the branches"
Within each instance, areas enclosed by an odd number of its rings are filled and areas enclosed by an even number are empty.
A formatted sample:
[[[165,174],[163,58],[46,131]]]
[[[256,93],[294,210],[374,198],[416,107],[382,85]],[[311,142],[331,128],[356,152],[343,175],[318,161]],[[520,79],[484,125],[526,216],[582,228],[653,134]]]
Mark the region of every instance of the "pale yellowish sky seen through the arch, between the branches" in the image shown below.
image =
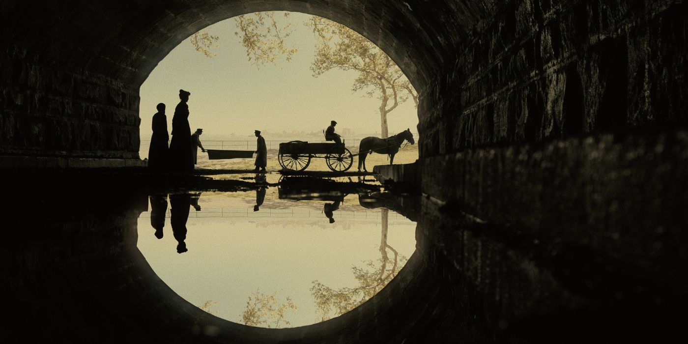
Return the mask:
[[[276,17],[281,17],[277,15]],[[295,29],[288,42],[299,51],[282,69],[248,62],[244,47],[235,36],[235,21],[227,19],[204,29],[220,36],[217,56],[208,58],[185,39],[166,56],[140,88],[141,138],[151,136],[155,105],[165,103],[171,131],[179,89],[191,92],[191,131],[204,129],[206,140],[228,140],[228,136],[252,137],[253,130],[322,133],[336,120],[338,132],[352,129],[356,135],[380,132],[380,100],[352,94],[356,72],[332,70],[312,76],[315,39],[301,23],[308,14],[292,13]],[[418,114],[408,100],[389,114],[389,133],[407,128],[416,131]],[[297,139],[297,138],[294,138]]]

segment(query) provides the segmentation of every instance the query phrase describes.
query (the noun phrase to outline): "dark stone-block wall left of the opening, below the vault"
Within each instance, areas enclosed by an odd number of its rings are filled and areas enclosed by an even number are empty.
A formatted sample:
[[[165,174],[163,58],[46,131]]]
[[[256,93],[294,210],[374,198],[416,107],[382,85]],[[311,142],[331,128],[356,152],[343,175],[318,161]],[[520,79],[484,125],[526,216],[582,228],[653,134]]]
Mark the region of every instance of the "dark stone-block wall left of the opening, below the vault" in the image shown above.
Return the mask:
[[[138,158],[138,90],[115,80],[3,57],[0,155]]]

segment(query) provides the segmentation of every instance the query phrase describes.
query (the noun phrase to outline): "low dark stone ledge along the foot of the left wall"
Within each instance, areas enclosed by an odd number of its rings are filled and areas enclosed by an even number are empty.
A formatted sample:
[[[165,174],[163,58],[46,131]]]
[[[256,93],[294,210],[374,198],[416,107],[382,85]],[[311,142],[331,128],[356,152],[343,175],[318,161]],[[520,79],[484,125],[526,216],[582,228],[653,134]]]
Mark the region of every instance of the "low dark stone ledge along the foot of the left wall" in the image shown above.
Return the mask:
[[[64,158],[0,155],[0,171],[32,168],[90,169],[98,167],[145,167],[147,164],[148,163],[144,160],[124,158]]]

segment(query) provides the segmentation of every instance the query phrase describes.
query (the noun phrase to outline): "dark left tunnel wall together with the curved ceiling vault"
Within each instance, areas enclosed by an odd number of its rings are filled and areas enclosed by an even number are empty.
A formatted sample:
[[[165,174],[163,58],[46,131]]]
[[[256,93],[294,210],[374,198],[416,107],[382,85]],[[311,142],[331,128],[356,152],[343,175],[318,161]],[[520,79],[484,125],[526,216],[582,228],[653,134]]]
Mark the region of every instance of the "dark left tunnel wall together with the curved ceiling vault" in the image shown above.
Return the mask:
[[[36,166],[70,166],[61,158],[137,159],[138,87],[191,34],[235,15],[290,10],[343,23],[385,50],[422,91],[495,3],[2,1],[0,157]],[[0,160],[8,167],[17,158]]]

